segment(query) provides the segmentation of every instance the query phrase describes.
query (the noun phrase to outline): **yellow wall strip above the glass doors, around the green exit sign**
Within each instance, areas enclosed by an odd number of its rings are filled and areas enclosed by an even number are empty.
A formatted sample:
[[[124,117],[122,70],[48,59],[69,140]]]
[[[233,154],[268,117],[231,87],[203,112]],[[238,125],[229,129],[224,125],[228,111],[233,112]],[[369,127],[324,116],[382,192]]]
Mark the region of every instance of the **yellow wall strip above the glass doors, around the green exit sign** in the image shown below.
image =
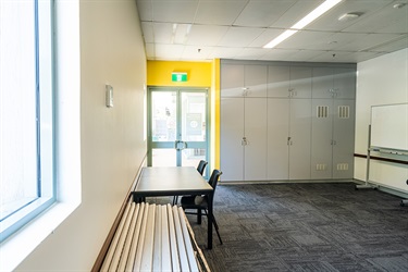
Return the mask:
[[[188,86],[211,87],[211,62],[187,61],[148,61],[147,85],[149,86]],[[187,82],[172,82],[173,72],[186,72]]]

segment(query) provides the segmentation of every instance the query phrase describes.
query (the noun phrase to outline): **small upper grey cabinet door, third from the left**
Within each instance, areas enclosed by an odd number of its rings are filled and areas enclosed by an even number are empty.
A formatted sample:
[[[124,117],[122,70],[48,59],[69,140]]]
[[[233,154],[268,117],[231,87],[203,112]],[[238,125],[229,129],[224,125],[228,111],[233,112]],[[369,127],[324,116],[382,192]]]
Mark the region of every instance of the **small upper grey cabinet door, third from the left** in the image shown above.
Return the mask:
[[[268,67],[268,97],[290,96],[290,69],[289,66]]]

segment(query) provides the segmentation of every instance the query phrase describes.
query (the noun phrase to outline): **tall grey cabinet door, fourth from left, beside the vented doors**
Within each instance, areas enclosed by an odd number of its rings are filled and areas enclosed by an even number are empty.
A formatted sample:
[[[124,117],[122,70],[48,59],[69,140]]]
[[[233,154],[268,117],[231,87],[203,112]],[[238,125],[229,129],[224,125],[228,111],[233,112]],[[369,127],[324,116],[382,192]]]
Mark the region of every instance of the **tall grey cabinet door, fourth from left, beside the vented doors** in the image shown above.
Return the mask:
[[[289,122],[289,180],[309,180],[311,99],[290,99]]]

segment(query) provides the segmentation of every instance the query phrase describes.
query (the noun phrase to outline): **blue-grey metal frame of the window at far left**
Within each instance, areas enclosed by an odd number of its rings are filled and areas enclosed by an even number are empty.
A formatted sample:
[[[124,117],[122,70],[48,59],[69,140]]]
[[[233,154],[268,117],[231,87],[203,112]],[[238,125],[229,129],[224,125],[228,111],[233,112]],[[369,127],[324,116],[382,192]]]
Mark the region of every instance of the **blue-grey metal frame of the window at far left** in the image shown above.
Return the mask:
[[[4,217],[0,243],[55,202],[54,169],[54,74],[52,0],[33,0],[35,35],[35,103],[37,137],[37,197]]]

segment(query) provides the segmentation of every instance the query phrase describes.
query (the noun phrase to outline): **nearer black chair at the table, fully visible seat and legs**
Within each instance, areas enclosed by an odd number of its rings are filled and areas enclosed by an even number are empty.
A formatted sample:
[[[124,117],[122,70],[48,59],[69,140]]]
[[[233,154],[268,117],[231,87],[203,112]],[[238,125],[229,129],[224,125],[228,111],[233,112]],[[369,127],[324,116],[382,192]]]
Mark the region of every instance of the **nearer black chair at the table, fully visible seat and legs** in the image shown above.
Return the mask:
[[[209,180],[209,184],[213,188],[213,196],[215,195],[215,188],[217,184],[220,180],[220,175],[222,172],[220,170],[213,170],[211,177]],[[212,197],[212,203],[213,203],[214,197]],[[182,208],[183,210],[197,210],[197,212],[185,212],[186,214],[197,214],[197,223],[201,224],[201,215],[202,210],[205,211],[205,215],[208,217],[208,197],[207,196],[185,196],[181,199]],[[213,207],[213,206],[212,206]],[[214,224],[217,235],[219,236],[220,243],[222,245],[222,239],[219,232],[219,225],[217,224],[215,217],[212,214],[212,223]]]

